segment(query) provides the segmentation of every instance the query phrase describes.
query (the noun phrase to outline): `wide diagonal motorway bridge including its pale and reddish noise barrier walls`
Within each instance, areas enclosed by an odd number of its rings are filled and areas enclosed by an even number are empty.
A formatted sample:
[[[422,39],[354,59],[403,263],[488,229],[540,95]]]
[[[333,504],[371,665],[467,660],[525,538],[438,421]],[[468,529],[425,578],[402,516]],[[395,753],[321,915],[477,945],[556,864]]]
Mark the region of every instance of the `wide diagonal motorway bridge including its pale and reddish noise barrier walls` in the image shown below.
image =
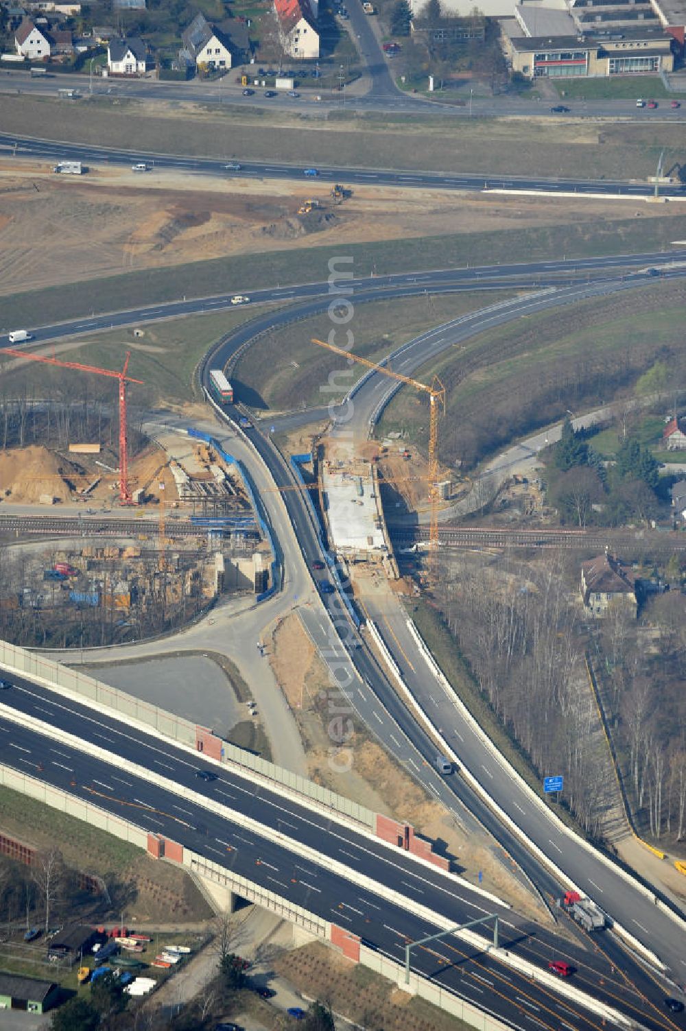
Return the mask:
[[[497,913],[498,950],[464,932],[413,953],[412,990],[484,1031],[524,1031],[532,1019],[677,1031],[661,987],[635,964],[620,972],[626,960],[610,932],[593,943],[553,934],[451,873],[406,825],[43,657],[0,652],[12,684],[0,698],[7,787],[181,863],[398,982],[407,941]],[[197,776],[205,770],[215,778]],[[575,966],[573,985],[548,972],[553,958]]]

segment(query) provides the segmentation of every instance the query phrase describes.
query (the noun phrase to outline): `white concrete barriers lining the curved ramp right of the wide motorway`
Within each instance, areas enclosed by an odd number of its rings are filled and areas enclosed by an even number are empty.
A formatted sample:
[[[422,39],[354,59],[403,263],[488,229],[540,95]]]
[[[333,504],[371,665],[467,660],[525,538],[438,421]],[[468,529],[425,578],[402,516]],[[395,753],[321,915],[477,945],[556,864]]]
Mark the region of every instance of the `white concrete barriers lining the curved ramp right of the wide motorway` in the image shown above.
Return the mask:
[[[445,674],[443,673],[443,670],[438,667],[435,659],[433,658],[433,656],[429,652],[429,650],[428,650],[428,647],[427,647],[424,639],[422,638],[421,634],[417,630],[417,628],[416,628],[415,624],[412,622],[412,620],[407,620],[407,628],[410,629],[410,632],[412,633],[413,637],[415,638],[415,641],[417,642],[417,646],[419,647],[419,650],[421,651],[422,655],[424,656],[424,659],[426,660],[427,665],[429,666],[429,668],[430,668],[431,672],[433,673],[435,679],[438,681],[438,684],[440,685],[440,687],[443,688],[443,690],[447,694],[449,700],[460,711],[461,716],[464,717],[464,719],[466,720],[466,722],[471,726],[471,728],[473,729],[473,731],[478,734],[478,736],[480,737],[480,739],[482,740],[482,742],[489,749],[489,751],[490,751],[491,755],[493,756],[493,758],[503,767],[503,770],[507,773],[507,775],[509,777],[511,777],[511,779],[517,780],[517,783],[520,785],[520,787],[522,787],[527,792],[529,798],[533,802],[535,802],[536,805],[538,805],[541,808],[543,808],[545,810],[546,814],[551,820],[553,820],[556,823],[558,830],[562,830],[569,837],[574,837],[575,840],[578,841],[578,842],[580,842],[581,844],[583,844],[588,852],[592,853],[595,857],[601,859],[606,863],[607,866],[611,867],[614,871],[617,871],[617,872],[621,873],[621,875],[624,877],[624,879],[627,880],[631,885],[631,887],[640,889],[643,892],[644,895],[647,895],[648,898],[652,899],[653,895],[652,895],[652,893],[650,891],[648,891],[647,888],[645,888],[640,882],[635,880],[629,873],[627,873],[625,870],[623,870],[620,866],[616,866],[611,860],[609,860],[607,858],[607,856],[603,856],[601,853],[599,853],[595,849],[593,849],[593,846],[591,844],[589,844],[587,841],[585,841],[582,837],[579,837],[578,835],[576,835],[574,833],[574,831],[569,830],[569,828],[566,827],[565,824],[562,823],[562,821],[559,819],[559,817],[556,813],[551,812],[551,810],[546,806],[546,804],[543,802],[543,800],[535,794],[534,791],[532,791],[532,789],[526,784],[526,781],[523,779],[523,777],[520,776],[520,774],[517,772],[517,770],[514,768],[514,766],[512,766],[512,764],[505,759],[505,757],[502,755],[502,753],[498,751],[498,749],[493,743],[493,741],[490,739],[490,737],[488,736],[488,734],[482,729],[482,727],[479,725],[479,723],[477,722],[477,720],[475,720],[475,718],[471,716],[471,713],[467,709],[466,705],[458,697],[457,693],[455,691],[453,691],[453,689],[451,688],[448,679],[446,678]],[[443,740],[443,738],[442,738],[442,740]],[[546,853],[543,852],[542,849],[540,849],[536,844],[534,844],[533,841],[531,841],[530,837],[526,834],[526,832],[524,830],[522,830],[522,828],[519,826],[519,824],[517,824],[515,822],[515,820],[512,817],[510,817],[510,814],[507,813],[504,811],[504,809],[502,809],[498,805],[498,803],[491,797],[491,795],[489,794],[489,792],[487,791],[487,789],[483,786],[483,784],[481,783],[481,780],[479,780],[479,778],[476,777],[467,769],[467,767],[464,765],[463,760],[460,757],[458,757],[455,752],[453,752],[451,745],[448,744],[447,741],[445,741],[445,746],[449,750],[449,753],[447,753],[447,755],[449,755],[449,758],[452,758],[455,762],[459,763],[460,769],[462,770],[463,773],[465,773],[467,779],[472,784],[472,786],[475,788],[477,788],[477,790],[479,791],[479,793],[486,799],[486,801],[488,802],[489,806],[495,812],[497,812],[497,814],[500,818],[500,820],[503,823],[505,823],[511,828],[511,830],[513,830],[522,841],[524,841],[524,843],[526,844],[526,847],[529,849],[529,851],[532,852],[535,856],[537,856],[538,859],[541,859],[542,862],[544,862],[545,865],[548,866],[548,868],[551,869],[555,873],[555,875],[560,878],[560,880],[562,883],[567,884],[567,886],[569,888],[574,889],[575,891],[578,891],[580,895],[587,896],[588,893],[586,891],[584,891],[583,888],[580,888],[579,885],[575,884],[575,882],[569,877],[568,873],[566,873],[564,870],[561,870],[559,868],[559,866],[557,866],[553,862],[553,860],[551,860],[550,857],[547,856]],[[674,919],[675,919],[675,921],[677,923],[679,923],[679,924],[683,923],[680,920],[680,918],[677,917],[676,913],[672,913],[672,916],[674,917]],[[660,958],[652,950],[648,949],[647,945],[645,945],[642,941],[640,941],[636,937],[634,937],[634,935],[632,935],[629,931],[627,931],[625,927],[623,927],[621,924],[617,923],[614,918],[613,918],[613,927],[618,932],[618,934],[621,934],[622,937],[625,938],[626,941],[632,947],[634,947],[638,951],[640,951],[652,963],[655,963],[660,969],[662,969],[662,970],[665,969],[664,964],[662,963],[662,961],[660,960]]]

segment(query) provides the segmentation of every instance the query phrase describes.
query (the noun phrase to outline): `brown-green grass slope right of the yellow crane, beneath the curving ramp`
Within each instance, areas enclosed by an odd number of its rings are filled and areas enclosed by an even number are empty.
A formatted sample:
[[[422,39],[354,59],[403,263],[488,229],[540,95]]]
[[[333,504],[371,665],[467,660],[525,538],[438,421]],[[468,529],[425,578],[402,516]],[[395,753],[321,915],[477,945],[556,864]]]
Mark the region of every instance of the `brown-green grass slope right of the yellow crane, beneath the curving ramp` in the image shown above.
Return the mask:
[[[452,465],[462,457],[459,450],[462,435],[475,420],[479,420],[480,413],[493,411],[497,405],[513,418],[517,407],[523,410],[525,405],[530,405],[532,428],[547,421],[543,418],[542,422],[536,422],[536,394],[547,392],[546,396],[550,396],[553,393],[559,398],[555,418],[561,418],[573,403],[569,398],[576,377],[579,380],[588,377],[589,370],[600,379],[606,376],[599,399],[611,400],[617,389],[617,384],[612,381],[617,373],[607,372],[611,366],[623,367],[624,372],[628,368],[635,369],[636,377],[663,348],[672,348],[675,354],[679,352],[683,296],[683,287],[678,281],[664,282],[659,287],[641,288],[630,297],[619,300],[606,298],[582,302],[575,306],[574,318],[559,311],[542,312],[519,324],[481,334],[468,340],[457,354],[451,352],[431,366],[420,369],[419,378],[426,380],[437,374],[448,386],[447,413],[440,436],[442,461]],[[461,373],[462,368],[468,371]],[[515,392],[521,402],[513,407]],[[563,403],[565,397],[567,400]],[[647,433],[654,433],[654,427],[648,428],[648,424],[646,427]],[[494,435],[496,450],[511,439],[501,421],[498,428],[504,436]],[[378,433],[384,435],[398,429],[405,431],[415,443],[427,444],[426,412],[424,408],[418,409],[411,391],[400,391],[391,401]],[[513,432],[512,436],[515,435]],[[601,442],[609,444],[610,439],[609,434]]]

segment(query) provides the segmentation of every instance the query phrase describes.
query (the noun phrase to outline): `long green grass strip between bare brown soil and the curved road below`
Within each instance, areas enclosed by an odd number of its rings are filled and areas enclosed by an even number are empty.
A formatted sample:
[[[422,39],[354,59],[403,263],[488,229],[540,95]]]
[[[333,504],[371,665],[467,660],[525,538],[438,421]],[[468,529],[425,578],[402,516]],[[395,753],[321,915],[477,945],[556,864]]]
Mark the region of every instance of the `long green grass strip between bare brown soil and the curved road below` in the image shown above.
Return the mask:
[[[457,199],[456,199],[457,202]],[[678,209],[677,209],[678,210]],[[383,275],[415,269],[464,268],[467,265],[593,257],[660,251],[672,240],[686,238],[686,213],[672,219],[602,219],[592,224],[529,229],[454,233],[379,243],[351,243],[339,253],[353,259],[355,275]],[[172,268],[127,272],[86,284],[51,287],[11,294],[1,299],[2,327],[32,327],[97,311],[119,311],[160,304],[181,297],[207,297],[250,292],[274,284],[325,280],[331,246],[264,255],[217,258]],[[488,303],[488,302],[486,302]]]

